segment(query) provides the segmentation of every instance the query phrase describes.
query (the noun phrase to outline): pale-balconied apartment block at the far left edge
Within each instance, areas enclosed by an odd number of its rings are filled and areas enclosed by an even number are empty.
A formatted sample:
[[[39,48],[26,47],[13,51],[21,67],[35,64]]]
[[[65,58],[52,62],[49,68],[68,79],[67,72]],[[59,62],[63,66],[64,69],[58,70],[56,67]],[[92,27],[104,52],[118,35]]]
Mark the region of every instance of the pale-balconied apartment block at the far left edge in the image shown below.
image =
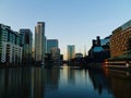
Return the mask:
[[[10,26],[0,24],[0,63],[21,63],[20,35]]]

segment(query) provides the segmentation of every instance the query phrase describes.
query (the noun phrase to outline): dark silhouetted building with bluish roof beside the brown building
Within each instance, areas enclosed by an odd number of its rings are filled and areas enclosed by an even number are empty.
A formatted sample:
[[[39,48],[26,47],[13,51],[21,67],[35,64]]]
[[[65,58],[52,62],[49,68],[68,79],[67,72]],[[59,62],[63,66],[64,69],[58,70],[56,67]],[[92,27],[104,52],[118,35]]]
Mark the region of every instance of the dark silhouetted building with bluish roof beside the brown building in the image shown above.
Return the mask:
[[[110,57],[109,39],[110,36],[104,39],[97,36],[96,40],[93,39],[93,46],[88,51],[90,62],[103,62]]]

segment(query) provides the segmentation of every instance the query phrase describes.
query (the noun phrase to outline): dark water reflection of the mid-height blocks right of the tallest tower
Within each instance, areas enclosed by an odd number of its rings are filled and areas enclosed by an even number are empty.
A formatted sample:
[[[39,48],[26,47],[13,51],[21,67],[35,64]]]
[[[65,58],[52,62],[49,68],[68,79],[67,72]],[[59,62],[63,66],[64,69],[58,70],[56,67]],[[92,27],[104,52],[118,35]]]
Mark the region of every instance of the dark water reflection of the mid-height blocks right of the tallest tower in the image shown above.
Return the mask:
[[[56,98],[59,87],[59,68],[45,69],[45,98]]]

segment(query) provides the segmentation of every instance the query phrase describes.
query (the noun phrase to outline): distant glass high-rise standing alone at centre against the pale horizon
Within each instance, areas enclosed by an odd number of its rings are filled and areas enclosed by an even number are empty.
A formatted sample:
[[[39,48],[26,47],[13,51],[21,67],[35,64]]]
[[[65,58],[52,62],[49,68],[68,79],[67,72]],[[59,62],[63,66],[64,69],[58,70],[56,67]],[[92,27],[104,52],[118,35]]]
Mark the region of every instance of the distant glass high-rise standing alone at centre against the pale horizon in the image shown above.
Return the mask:
[[[68,60],[74,59],[75,57],[75,46],[68,45]]]

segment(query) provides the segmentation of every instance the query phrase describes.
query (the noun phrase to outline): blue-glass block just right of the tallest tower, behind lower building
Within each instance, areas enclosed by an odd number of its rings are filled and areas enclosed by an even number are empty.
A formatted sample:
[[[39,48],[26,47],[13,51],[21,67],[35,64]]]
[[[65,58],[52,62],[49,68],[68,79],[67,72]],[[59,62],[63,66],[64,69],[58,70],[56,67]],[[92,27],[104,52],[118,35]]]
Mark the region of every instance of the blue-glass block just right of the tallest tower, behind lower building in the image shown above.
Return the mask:
[[[47,53],[50,53],[52,48],[58,48],[58,39],[47,39]]]

